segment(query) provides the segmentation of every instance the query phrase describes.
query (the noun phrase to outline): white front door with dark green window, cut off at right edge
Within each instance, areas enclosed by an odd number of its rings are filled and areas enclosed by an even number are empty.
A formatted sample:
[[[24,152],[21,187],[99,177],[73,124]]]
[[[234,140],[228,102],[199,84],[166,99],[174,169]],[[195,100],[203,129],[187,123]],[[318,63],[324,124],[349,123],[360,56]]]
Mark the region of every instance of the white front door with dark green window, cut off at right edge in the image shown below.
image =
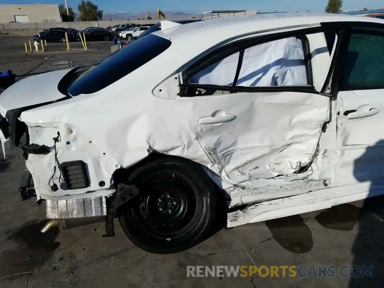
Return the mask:
[[[336,180],[343,185],[384,181],[384,29],[371,24],[346,28],[345,59],[337,62]]]

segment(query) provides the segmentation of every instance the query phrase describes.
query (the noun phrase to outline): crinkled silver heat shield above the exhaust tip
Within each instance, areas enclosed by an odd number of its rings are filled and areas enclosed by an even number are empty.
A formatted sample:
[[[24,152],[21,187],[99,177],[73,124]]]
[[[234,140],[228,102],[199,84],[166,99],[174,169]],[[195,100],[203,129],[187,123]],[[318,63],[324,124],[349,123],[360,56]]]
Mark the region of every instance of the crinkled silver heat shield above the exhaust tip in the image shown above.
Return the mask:
[[[105,196],[80,199],[46,200],[46,218],[70,219],[106,216],[107,205]]]

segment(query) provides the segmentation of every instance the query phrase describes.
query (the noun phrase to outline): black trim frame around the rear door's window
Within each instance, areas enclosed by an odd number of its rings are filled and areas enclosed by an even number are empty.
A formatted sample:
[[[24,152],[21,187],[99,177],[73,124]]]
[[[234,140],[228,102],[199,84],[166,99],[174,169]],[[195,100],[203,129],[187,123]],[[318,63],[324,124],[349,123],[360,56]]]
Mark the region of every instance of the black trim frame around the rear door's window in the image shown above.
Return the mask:
[[[218,91],[233,91],[233,92],[275,92],[275,91],[287,91],[287,92],[308,92],[308,93],[318,93],[313,86],[313,76],[312,76],[312,65],[310,61],[310,46],[309,41],[306,35],[314,34],[318,32],[324,32],[324,30],[331,30],[331,28],[324,27],[311,27],[303,28],[300,30],[287,31],[281,33],[274,33],[272,35],[263,35],[255,36],[252,38],[240,39],[234,41],[228,45],[224,45],[218,48],[215,51],[212,51],[208,55],[201,58],[196,63],[192,64],[188,70],[184,72],[183,75],[183,84],[180,84],[180,97],[194,97],[195,95],[188,95],[188,88],[210,88],[217,89]],[[207,84],[197,84],[189,83],[189,79],[195,73],[207,68],[208,66],[216,63],[217,61],[223,60],[224,58],[245,50],[247,48],[267,43],[270,41],[280,40],[289,37],[297,37],[301,40],[304,50],[304,59],[306,61],[306,74],[307,74],[307,83],[306,85],[284,85],[284,86],[258,86],[258,87],[247,87],[247,86],[222,86],[222,85],[207,85]],[[239,55],[240,58],[240,55]],[[239,59],[240,60],[240,59]],[[238,67],[237,67],[238,68]],[[236,71],[237,72],[237,71]],[[240,73],[240,70],[239,70]],[[328,95],[327,95],[328,96]]]

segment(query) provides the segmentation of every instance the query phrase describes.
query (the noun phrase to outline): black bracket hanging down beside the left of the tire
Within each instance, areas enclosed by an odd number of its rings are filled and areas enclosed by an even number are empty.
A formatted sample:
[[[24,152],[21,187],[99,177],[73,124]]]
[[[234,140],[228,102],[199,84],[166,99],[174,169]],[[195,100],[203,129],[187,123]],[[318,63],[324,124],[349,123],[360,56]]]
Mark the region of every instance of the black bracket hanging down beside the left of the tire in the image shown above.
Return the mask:
[[[115,230],[113,227],[113,220],[116,216],[116,210],[138,194],[139,190],[135,185],[118,185],[116,195],[113,196],[112,204],[109,207],[108,215],[105,217],[106,233],[103,235],[103,237],[114,237]]]

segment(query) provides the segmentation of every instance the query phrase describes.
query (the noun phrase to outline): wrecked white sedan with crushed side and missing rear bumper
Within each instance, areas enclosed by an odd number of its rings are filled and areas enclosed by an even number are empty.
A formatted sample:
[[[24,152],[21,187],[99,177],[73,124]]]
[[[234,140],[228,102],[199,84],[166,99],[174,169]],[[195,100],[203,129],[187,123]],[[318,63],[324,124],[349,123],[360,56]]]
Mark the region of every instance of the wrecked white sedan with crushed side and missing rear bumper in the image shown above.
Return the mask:
[[[381,20],[161,26],[1,95],[2,150],[22,148],[19,190],[45,201],[43,232],[102,219],[110,237],[119,217],[138,247],[174,253],[225,217],[233,227],[384,194]]]

